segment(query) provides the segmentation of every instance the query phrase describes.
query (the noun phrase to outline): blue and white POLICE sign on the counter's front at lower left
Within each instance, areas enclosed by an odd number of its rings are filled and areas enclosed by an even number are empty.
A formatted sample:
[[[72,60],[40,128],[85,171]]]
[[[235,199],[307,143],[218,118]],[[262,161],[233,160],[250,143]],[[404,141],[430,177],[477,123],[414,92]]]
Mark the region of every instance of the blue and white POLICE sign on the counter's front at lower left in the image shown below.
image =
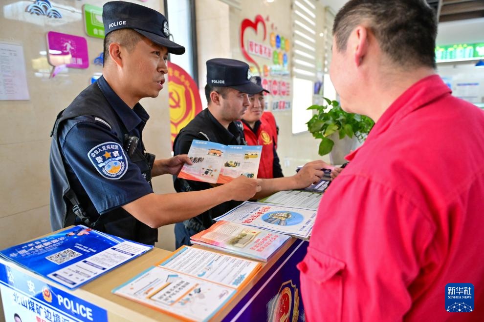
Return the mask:
[[[6,322],[108,321],[105,309],[1,262],[0,291]]]

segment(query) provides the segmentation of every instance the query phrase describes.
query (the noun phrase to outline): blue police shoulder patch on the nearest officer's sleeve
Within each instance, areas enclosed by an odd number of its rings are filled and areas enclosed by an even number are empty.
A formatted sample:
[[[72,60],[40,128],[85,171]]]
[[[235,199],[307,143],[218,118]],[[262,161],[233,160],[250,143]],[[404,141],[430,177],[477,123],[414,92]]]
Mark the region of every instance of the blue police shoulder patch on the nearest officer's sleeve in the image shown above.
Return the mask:
[[[88,158],[97,172],[106,179],[120,179],[128,170],[123,147],[116,142],[104,142],[93,147]]]

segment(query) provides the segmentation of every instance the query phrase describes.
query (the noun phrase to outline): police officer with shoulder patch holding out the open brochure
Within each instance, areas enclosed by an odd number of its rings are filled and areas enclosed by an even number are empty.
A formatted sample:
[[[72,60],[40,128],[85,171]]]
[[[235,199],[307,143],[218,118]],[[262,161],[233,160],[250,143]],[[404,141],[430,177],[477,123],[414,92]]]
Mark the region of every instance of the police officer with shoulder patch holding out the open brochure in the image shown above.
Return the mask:
[[[141,137],[149,116],[138,101],[158,96],[168,53],[185,48],[168,39],[162,14],[138,4],[106,3],[103,22],[103,76],[59,113],[51,134],[52,229],[82,223],[154,244],[157,227],[260,190],[257,180],[241,177],[206,191],[153,192],[152,177],[176,174],[191,162],[186,155],[155,160],[146,153]]]

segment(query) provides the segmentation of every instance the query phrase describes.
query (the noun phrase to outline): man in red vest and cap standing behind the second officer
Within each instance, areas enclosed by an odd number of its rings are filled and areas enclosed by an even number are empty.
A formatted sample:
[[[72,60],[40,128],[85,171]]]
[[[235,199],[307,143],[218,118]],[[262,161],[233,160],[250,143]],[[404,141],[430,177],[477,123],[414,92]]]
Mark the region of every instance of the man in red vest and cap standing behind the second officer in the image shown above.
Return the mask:
[[[251,77],[251,82],[261,86],[259,76]],[[284,177],[277,156],[277,125],[271,112],[264,112],[264,92],[249,95],[250,106],[242,116],[243,134],[247,145],[262,145],[261,161],[257,178],[271,179]]]

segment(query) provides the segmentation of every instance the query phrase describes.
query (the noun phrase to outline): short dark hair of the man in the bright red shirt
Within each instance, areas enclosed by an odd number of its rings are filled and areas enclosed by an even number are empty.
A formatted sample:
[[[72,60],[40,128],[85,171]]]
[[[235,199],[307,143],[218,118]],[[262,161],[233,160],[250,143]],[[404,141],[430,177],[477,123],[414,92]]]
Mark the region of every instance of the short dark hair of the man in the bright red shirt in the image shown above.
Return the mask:
[[[336,50],[345,51],[353,29],[365,22],[394,64],[436,68],[437,19],[425,0],[348,1],[334,18]]]

